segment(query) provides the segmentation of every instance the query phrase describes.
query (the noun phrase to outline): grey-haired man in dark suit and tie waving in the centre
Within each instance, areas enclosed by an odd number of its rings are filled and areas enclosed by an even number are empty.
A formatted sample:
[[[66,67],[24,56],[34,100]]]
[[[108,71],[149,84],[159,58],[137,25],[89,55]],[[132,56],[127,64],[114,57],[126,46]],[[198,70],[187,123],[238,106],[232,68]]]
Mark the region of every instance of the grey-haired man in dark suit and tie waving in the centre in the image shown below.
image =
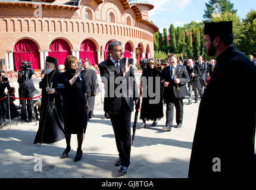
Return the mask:
[[[119,159],[115,166],[119,172],[127,173],[130,165],[130,119],[133,112],[133,100],[138,103],[139,93],[135,75],[129,59],[123,58],[121,42],[113,41],[108,45],[110,58],[99,64],[102,81],[105,85],[104,111],[109,114],[115,134],[115,143]]]

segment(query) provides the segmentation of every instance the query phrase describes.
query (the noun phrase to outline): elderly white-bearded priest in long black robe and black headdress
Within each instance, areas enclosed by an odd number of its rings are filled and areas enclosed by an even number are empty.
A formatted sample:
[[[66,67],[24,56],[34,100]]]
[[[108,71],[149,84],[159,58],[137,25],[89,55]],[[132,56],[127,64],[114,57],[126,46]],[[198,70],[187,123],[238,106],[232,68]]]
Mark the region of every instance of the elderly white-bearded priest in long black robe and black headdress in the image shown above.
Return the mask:
[[[57,90],[61,75],[58,71],[57,59],[46,57],[45,68],[45,76],[39,84],[42,89],[42,106],[34,144],[55,143],[65,138],[62,96]]]

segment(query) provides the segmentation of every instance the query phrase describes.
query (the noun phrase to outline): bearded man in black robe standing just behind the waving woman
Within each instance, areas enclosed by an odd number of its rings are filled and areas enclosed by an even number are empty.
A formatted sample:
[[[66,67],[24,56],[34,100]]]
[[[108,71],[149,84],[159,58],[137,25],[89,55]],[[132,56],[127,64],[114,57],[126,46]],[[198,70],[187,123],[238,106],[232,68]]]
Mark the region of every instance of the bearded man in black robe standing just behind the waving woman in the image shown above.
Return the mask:
[[[89,105],[88,119],[93,118],[93,109],[95,105],[95,96],[99,93],[99,81],[97,78],[97,74],[93,69],[89,68],[90,62],[85,60],[83,61],[82,71],[83,77],[85,77],[86,88],[87,88],[87,101]]]

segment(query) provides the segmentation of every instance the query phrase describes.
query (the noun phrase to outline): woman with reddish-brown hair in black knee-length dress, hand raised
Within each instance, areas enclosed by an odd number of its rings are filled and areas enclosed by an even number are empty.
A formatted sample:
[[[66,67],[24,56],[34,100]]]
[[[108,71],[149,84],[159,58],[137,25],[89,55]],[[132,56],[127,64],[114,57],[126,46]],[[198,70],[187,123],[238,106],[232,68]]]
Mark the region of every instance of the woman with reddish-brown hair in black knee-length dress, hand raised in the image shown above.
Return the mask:
[[[71,134],[77,134],[77,152],[74,162],[81,159],[83,134],[85,134],[88,122],[87,112],[89,110],[86,100],[85,77],[80,75],[77,66],[77,58],[73,55],[65,59],[65,72],[62,74],[65,90],[63,92],[64,131],[67,147],[63,152],[63,158],[70,152]]]

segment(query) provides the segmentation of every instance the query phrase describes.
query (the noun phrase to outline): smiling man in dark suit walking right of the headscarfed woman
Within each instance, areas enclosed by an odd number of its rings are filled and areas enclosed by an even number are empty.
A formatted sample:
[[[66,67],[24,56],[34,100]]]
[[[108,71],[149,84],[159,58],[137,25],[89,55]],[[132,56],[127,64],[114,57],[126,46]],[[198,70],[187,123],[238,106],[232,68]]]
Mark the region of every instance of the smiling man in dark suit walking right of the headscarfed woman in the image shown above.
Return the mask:
[[[183,98],[188,96],[186,83],[189,75],[186,66],[177,64],[177,56],[174,53],[168,55],[169,65],[163,69],[161,84],[164,86],[164,100],[166,102],[166,126],[165,131],[171,131],[173,126],[174,106],[176,108],[176,128],[182,126]]]

